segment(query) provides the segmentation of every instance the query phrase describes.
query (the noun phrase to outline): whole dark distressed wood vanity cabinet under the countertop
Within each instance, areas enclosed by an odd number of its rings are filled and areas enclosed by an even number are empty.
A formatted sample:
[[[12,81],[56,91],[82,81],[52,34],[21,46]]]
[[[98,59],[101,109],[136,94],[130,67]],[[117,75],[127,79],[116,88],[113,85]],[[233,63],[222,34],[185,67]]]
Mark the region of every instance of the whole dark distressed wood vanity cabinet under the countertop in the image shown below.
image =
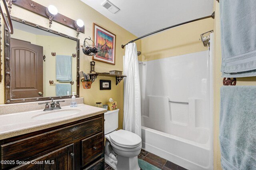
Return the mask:
[[[1,170],[104,170],[104,114],[0,141]]]

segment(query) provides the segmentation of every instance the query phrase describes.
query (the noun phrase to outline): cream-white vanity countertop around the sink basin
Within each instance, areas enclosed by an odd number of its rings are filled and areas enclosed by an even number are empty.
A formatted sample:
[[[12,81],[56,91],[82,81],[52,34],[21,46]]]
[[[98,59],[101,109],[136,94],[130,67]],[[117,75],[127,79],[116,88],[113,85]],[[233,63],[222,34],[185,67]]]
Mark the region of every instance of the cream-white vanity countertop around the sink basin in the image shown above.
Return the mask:
[[[105,113],[107,111],[103,108],[84,104],[78,104],[77,107],[64,106],[62,109],[56,111],[64,111],[68,109],[81,109],[82,111],[74,115],[47,120],[35,120],[33,117],[36,115],[47,114],[53,111],[42,111],[41,109],[36,111],[25,111],[0,115],[0,140],[78,121]]]

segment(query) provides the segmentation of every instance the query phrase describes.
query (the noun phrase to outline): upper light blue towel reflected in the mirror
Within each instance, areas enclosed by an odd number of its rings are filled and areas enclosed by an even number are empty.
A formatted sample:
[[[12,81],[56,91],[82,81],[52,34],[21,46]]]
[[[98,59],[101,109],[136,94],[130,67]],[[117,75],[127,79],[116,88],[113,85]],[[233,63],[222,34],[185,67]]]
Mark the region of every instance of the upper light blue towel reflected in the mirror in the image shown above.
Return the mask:
[[[72,57],[56,55],[56,80],[72,81]]]

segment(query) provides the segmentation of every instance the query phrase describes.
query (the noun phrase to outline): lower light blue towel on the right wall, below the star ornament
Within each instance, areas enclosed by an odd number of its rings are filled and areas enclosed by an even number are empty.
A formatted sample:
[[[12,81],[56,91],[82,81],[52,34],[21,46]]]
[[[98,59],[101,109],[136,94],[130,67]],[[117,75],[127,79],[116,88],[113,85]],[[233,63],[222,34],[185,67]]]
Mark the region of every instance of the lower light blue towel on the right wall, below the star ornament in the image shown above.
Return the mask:
[[[223,170],[256,170],[256,86],[220,89]]]

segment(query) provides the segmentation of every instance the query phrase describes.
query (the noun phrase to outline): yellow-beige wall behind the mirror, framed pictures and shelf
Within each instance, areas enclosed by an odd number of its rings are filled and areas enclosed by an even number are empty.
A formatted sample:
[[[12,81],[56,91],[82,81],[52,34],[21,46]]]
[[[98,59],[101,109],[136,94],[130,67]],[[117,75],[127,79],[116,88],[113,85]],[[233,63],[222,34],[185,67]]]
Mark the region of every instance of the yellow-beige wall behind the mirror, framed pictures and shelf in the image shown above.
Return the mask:
[[[102,63],[100,61],[96,61],[95,70],[97,72],[108,72],[110,70],[123,70],[123,55],[124,49],[121,48],[122,44],[125,44],[131,40],[136,39],[137,37],[126,31],[122,27],[118,26],[102,14],[96,12],[94,9],[90,8],[86,4],[84,4],[80,0],[34,0],[43,6],[48,6],[50,4],[56,6],[58,8],[58,12],[63,14],[73,20],[82,19],[85,25],[85,34],[80,34],[80,45],[83,44],[84,39],[89,36],[92,37],[92,23],[96,23],[97,25],[105,28],[106,30],[116,34],[116,65],[110,65],[107,63]],[[12,6],[12,16],[16,16],[18,18],[22,18],[24,20],[33,22],[40,26],[44,26],[48,28],[48,19],[28,10],[24,10],[18,6]],[[3,26],[1,28],[3,30]],[[76,36],[76,30],[53,22],[52,30],[61,32],[63,34],[68,34],[70,36]],[[1,36],[3,37],[3,32]],[[141,51],[141,42],[137,41],[138,50]],[[4,41],[2,40],[2,44]],[[3,45],[2,45],[3,46]],[[3,50],[4,51],[4,50]],[[4,53],[2,52],[4,56]],[[80,50],[80,70],[83,70],[85,73],[89,73],[90,71],[90,61],[92,58],[90,56],[86,56]],[[3,68],[3,66],[2,66]],[[99,81],[100,79],[111,80],[111,90],[101,90]],[[115,101],[118,102],[119,111],[119,128],[122,128],[122,120],[123,120],[123,81],[116,85],[115,78],[111,77],[98,77],[94,83],[92,83],[91,89],[83,89],[80,87],[80,96],[84,97],[84,103],[88,105],[94,105],[96,101],[102,101],[105,104],[110,97],[112,97]],[[4,103],[4,81],[0,83],[0,104]]]

